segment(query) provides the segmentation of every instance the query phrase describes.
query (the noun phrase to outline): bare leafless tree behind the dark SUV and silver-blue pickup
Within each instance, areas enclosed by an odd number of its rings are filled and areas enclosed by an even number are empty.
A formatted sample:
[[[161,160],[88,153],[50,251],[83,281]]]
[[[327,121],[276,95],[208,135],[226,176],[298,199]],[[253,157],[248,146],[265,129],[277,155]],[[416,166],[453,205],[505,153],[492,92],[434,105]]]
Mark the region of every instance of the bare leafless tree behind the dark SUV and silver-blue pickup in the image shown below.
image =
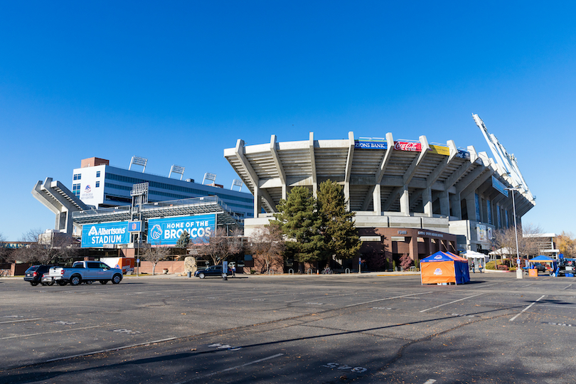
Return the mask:
[[[40,229],[28,230],[21,241],[29,245],[12,253],[12,261],[51,264],[58,258],[72,257],[78,249],[78,242],[65,233],[43,233]]]

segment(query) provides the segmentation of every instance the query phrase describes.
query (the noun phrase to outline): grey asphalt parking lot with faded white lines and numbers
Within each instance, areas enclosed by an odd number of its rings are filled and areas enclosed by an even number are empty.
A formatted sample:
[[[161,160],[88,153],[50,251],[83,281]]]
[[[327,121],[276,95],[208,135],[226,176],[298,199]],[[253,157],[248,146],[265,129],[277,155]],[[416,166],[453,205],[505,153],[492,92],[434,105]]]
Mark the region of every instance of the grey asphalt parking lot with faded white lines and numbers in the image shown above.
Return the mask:
[[[0,279],[0,383],[576,383],[576,279]]]

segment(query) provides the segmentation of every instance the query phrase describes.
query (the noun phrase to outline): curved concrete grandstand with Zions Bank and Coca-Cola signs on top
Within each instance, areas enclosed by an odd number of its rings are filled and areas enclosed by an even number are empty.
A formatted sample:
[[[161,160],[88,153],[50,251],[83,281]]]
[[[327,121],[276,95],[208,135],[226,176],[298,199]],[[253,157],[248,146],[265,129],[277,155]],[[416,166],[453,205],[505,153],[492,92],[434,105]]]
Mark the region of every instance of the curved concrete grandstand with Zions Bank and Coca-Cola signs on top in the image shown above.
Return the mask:
[[[392,133],[356,138],[349,132],[347,139],[319,140],[311,132],[298,142],[272,135],[270,142],[250,146],[238,139],[224,156],[254,196],[245,235],[272,218],[291,188],[305,186],[316,194],[330,179],[343,186],[356,212],[364,254],[388,260],[407,254],[417,265],[437,250],[487,253],[495,231],[514,225],[514,211],[520,223],[535,200],[514,156],[473,117],[493,157],[474,146],[458,148],[452,140],[397,141]]]

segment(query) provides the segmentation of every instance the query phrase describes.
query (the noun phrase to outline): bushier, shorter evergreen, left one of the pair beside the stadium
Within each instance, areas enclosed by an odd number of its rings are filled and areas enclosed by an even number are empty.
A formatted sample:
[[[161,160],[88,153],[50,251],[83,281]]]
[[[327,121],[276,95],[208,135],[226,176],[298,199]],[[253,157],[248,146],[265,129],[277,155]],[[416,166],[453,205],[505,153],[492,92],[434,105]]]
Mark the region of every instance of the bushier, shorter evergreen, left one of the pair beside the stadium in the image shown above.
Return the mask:
[[[299,262],[314,262],[325,255],[322,220],[314,196],[303,186],[292,188],[288,199],[282,199],[274,216],[287,236],[287,255]]]

